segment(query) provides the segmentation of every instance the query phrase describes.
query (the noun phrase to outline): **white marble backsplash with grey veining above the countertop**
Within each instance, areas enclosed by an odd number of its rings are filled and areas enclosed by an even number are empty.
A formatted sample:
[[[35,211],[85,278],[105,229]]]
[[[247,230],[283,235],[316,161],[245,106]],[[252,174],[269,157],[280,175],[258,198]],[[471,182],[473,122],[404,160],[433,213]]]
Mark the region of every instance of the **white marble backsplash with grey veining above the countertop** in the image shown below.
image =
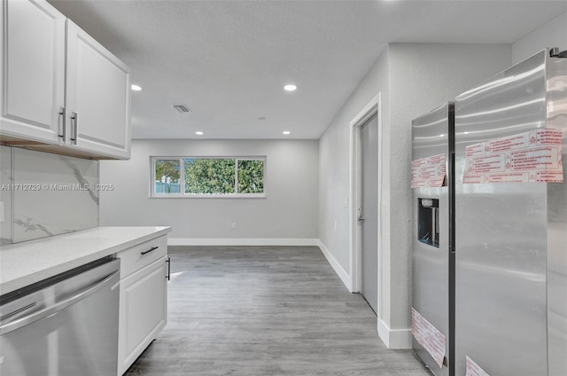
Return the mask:
[[[98,161],[2,146],[3,176],[4,148],[12,151],[12,243],[98,226]]]

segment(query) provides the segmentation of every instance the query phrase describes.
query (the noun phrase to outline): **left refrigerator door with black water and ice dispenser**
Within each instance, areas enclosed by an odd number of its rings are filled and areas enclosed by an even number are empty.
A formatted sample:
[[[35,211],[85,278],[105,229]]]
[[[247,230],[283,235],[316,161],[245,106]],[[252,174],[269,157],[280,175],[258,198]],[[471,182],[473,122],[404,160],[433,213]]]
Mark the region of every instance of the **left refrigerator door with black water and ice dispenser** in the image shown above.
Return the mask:
[[[447,359],[453,113],[453,103],[446,103],[412,121],[413,349],[437,376],[450,374]]]

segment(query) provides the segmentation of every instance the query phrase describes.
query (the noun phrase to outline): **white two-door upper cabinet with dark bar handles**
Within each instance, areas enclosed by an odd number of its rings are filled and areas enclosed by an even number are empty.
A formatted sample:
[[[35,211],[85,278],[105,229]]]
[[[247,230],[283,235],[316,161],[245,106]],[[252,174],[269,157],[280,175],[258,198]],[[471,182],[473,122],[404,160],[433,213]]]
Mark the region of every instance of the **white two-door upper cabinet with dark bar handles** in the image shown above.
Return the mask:
[[[3,0],[0,141],[130,156],[130,72],[44,0]]]

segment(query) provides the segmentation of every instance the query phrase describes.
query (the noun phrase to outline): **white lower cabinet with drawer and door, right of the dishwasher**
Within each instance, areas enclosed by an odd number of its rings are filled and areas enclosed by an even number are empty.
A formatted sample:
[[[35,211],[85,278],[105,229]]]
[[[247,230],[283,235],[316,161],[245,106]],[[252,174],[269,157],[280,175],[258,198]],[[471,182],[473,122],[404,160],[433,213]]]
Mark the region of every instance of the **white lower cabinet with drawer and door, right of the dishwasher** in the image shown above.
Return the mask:
[[[167,324],[167,238],[128,248],[120,258],[118,372],[136,361]]]

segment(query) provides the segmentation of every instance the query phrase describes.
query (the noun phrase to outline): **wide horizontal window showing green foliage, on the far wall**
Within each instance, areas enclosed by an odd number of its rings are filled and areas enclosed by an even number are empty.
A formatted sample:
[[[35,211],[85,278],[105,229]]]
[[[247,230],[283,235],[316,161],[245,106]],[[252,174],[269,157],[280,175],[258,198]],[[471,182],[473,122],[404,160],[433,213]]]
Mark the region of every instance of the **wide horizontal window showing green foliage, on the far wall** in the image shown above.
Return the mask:
[[[151,197],[266,197],[266,157],[151,157]]]

